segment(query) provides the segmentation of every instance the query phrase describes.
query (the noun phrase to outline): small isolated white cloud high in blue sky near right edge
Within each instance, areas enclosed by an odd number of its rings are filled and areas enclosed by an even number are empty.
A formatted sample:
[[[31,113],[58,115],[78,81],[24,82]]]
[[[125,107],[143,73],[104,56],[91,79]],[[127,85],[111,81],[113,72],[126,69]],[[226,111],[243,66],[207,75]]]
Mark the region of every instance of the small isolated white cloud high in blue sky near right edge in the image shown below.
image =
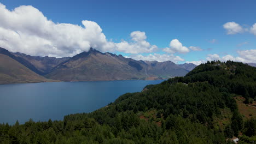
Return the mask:
[[[223,27],[226,29],[227,34],[242,33],[244,31],[243,28],[236,22],[227,22],[223,25]]]

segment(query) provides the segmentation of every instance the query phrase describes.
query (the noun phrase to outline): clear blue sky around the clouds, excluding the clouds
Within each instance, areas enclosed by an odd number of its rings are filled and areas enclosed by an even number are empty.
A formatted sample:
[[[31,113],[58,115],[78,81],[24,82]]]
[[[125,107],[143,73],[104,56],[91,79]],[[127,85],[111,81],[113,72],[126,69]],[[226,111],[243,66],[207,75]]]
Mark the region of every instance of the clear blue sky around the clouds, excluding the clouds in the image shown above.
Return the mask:
[[[106,39],[113,43],[120,43],[121,40],[133,43],[130,35],[132,32],[145,32],[146,41],[150,45],[156,45],[157,50],[139,53],[129,53],[120,49],[110,51],[135,59],[141,55],[143,57],[140,58],[145,60],[158,60],[158,57],[147,58],[150,54],[158,53],[159,55],[172,55],[172,57],[179,56],[183,59],[183,61],[178,61],[170,58],[176,63],[192,61],[200,63],[200,61],[207,61],[207,57],[218,59],[216,55],[221,60],[222,57],[231,55],[233,57],[231,60],[255,62],[255,55],[248,56],[247,53],[255,53],[256,49],[256,33],[254,34],[250,30],[256,23],[256,1],[0,0],[0,3],[5,5],[9,11],[20,7],[20,5],[32,5],[54,23],[71,23],[83,27],[83,20],[94,21],[101,27]],[[235,22],[243,30],[228,34],[228,30],[223,27],[227,22]],[[166,47],[171,47],[169,44],[173,39],[178,39],[188,49],[190,46],[195,46],[199,47],[201,51],[191,49],[185,53],[162,51]],[[20,48],[19,50],[24,49]],[[15,51],[11,47],[9,50]],[[24,52],[26,51],[24,50]],[[32,52],[28,52],[28,54],[33,55]],[[216,54],[215,57],[212,56],[214,54]],[[44,55],[47,55],[47,52],[44,52]],[[52,54],[52,56],[55,55]],[[56,56],[61,57],[60,55]]]

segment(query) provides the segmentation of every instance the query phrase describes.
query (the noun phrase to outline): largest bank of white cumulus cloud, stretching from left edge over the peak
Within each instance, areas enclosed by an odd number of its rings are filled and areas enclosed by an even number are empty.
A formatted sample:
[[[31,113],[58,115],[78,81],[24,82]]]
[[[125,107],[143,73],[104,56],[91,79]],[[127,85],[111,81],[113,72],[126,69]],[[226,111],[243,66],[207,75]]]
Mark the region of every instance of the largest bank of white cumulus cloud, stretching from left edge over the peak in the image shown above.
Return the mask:
[[[32,6],[22,5],[10,11],[0,3],[0,20],[0,46],[33,56],[74,56],[90,47],[102,52],[127,53],[158,49],[146,41],[144,32],[132,32],[131,43],[113,43],[96,22],[84,20],[82,26],[54,23]]]

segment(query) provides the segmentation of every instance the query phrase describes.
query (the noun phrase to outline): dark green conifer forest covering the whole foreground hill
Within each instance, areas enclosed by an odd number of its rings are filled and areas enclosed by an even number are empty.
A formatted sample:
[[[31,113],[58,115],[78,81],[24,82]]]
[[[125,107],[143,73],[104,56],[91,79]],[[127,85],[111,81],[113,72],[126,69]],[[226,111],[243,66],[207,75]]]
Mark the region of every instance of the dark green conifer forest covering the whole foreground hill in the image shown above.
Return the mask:
[[[256,142],[255,116],[243,116],[235,100],[256,100],[254,67],[207,62],[145,89],[63,121],[0,124],[0,143],[232,143],[234,136]]]

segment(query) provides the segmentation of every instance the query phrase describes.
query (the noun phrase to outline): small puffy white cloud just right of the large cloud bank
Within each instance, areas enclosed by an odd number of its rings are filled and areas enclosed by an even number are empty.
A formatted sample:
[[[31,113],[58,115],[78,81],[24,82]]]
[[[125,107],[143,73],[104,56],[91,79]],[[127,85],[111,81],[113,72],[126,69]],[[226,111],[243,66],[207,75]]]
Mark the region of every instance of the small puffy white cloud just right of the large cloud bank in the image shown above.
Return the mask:
[[[178,39],[173,39],[170,42],[170,47],[166,47],[165,49],[163,49],[163,51],[168,53],[187,53],[189,52],[189,49],[188,47],[183,46]]]

